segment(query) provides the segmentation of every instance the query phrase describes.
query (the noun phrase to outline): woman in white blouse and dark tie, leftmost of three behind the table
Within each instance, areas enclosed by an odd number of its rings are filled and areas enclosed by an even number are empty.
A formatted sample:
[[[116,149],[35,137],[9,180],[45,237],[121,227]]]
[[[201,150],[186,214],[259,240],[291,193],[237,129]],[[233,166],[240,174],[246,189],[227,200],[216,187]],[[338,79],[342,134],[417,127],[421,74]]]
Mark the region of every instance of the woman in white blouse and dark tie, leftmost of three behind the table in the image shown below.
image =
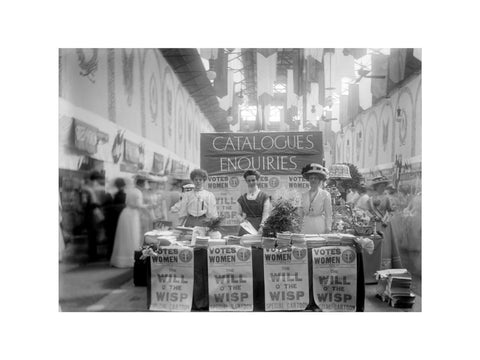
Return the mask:
[[[190,173],[195,188],[183,195],[178,212],[180,223],[184,222],[186,227],[204,226],[205,220],[218,217],[215,195],[203,189],[207,177],[207,172],[202,169]]]

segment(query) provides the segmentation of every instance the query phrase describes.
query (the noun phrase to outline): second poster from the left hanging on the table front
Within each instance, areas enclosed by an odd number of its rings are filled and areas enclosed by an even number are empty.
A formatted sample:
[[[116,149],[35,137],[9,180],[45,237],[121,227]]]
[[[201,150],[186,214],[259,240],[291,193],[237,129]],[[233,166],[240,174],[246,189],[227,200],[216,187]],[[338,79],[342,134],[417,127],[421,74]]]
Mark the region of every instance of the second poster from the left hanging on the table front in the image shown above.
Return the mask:
[[[253,311],[252,249],[243,246],[208,248],[210,311]]]

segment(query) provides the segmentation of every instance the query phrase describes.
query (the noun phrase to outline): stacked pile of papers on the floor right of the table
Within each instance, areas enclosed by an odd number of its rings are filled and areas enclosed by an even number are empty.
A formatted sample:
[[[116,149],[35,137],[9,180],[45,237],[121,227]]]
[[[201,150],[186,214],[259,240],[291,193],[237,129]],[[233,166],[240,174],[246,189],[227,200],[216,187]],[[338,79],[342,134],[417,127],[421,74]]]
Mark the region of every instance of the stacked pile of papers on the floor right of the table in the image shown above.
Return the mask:
[[[407,269],[379,270],[375,273],[378,280],[377,296],[392,307],[411,308],[415,303],[412,292],[412,275]]]

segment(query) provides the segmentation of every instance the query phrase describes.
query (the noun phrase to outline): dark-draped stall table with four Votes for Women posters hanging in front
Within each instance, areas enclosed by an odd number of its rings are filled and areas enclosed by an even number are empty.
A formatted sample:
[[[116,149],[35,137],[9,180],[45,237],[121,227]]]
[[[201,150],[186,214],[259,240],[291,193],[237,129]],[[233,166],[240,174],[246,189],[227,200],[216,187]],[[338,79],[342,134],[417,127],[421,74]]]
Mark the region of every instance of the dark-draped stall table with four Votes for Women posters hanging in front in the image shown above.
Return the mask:
[[[160,311],[363,311],[362,246],[347,234],[282,234],[137,252],[147,308]],[[285,237],[290,241],[285,242]],[[303,239],[302,239],[303,238]],[[140,275],[141,274],[141,275]]]

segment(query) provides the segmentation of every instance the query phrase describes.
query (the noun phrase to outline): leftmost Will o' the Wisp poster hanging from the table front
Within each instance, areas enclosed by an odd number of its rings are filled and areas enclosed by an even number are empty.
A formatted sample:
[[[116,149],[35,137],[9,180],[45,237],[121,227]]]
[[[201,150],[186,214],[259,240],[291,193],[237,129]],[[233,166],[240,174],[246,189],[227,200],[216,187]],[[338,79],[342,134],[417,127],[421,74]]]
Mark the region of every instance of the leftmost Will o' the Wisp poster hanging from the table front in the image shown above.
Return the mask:
[[[193,249],[165,246],[150,257],[150,310],[190,311],[193,299]]]

